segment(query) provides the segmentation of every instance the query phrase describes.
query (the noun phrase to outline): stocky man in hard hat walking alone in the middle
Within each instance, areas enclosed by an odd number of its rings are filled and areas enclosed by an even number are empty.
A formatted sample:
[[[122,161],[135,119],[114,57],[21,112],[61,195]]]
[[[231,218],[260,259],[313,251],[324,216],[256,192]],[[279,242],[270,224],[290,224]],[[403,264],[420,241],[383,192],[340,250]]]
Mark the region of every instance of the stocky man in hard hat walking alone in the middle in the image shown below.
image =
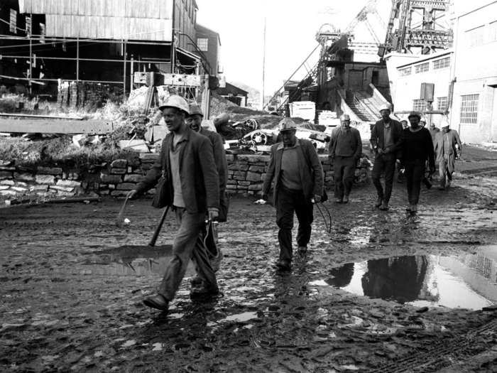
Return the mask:
[[[289,271],[292,263],[293,215],[299,222],[297,245],[299,254],[307,252],[313,220],[313,202],[324,195],[323,169],[316,148],[311,141],[297,139],[297,125],[290,118],[278,124],[283,141],[271,146],[268,171],[262,187],[264,200],[268,200],[274,179],[273,205],[276,208],[280,257],[276,266]]]

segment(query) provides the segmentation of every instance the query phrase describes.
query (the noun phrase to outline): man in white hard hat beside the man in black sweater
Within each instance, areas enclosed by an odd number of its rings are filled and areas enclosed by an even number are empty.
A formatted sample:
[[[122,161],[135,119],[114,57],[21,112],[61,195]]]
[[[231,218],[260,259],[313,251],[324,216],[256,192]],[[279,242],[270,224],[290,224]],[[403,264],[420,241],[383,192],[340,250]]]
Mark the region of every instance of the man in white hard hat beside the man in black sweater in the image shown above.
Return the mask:
[[[392,195],[395,159],[402,143],[402,125],[391,119],[391,106],[385,104],[380,108],[381,120],[371,129],[371,148],[375,153],[371,178],[378,193],[375,206],[388,210],[388,202]],[[385,189],[381,185],[381,173],[385,173]]]

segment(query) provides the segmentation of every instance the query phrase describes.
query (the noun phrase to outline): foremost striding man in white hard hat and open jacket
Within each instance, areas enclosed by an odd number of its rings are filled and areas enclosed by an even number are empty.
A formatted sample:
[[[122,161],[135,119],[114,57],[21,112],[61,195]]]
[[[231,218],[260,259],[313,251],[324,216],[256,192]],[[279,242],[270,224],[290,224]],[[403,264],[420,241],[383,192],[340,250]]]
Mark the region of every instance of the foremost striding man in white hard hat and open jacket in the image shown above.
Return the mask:
[[[166,194],[166,205],[176,213],[178,232],[173,242],[173,259],[165,270],[158,293],[143,303],[151,308],[167,310],[190,259],[195,261],[197,274],[202,279],[198,288],[192,288],[190,296],[205,298],[219,293],[207,251],[197,240],[206,215],[209,220],[214,220],[219,214],[219,177],[209,139],[192,131],[185,123],[189,114],[185,99],[172,95],[159,109],[170,134],[163,141],[160,157],[128,197],[136,198],[153,188],[165,171],[163,193]]]

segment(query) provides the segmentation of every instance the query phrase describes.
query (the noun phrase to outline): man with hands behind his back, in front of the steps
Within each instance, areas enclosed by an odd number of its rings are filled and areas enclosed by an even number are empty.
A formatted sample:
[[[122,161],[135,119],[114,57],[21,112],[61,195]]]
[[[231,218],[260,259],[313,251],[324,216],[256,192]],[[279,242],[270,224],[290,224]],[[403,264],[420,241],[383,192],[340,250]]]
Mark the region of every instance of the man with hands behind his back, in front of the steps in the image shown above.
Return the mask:
[[[362,153],[361,134],[350,126],[349,115],[340,116],[340,126],[332,131],[328,151],[334,169],[335,202],[347,203]]]

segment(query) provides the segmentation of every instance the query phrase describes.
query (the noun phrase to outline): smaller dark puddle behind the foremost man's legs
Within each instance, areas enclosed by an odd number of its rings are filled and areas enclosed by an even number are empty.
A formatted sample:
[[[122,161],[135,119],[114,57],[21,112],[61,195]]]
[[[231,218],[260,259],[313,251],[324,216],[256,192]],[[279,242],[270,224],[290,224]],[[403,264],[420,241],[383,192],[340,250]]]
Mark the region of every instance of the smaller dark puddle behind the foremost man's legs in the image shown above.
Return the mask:
[[[148,276],[163,275],[172,258],[172,246],[124,246],[94,252],[75,269],[76,274]],[[185,276],[195,275],[195,266],[190,261]]]

